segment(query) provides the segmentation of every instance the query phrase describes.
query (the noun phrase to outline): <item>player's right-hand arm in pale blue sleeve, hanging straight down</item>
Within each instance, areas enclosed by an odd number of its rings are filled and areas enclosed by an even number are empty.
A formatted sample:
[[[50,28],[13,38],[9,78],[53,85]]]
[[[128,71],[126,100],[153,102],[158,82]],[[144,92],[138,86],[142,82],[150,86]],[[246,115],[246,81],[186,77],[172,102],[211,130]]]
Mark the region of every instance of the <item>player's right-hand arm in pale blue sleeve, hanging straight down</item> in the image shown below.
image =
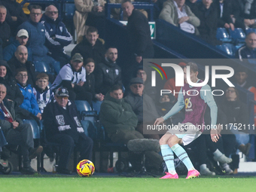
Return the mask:
[[[215,99],[212,96],[212,89],[211,89],[211,87],[209,87],[208,84],[206,84],[205,86],[202,87],[202,89],[200,91],[200,96],[210,108],[211,128],[216,128],[218,107],[216,105]],[[218,141],[219,137],[218,137],[218,130],[217,129],[212,129],[211,130],[211,138],[212,138],[213,142]]]

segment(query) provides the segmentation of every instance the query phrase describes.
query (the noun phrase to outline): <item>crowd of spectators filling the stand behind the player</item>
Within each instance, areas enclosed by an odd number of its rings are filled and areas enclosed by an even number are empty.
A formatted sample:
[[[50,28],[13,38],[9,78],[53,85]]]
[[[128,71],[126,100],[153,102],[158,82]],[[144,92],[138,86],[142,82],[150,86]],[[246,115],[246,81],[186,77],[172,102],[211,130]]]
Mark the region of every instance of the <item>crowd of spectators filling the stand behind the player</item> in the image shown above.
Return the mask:
[[[159,18],[185,32],[200,35],[210,44],[218,44],[215,38],[218,27],[233,30],[234,27],[245,29],[255,25],[254,2],[248,5],[242,0],[167,0],[155,4],[160,4],[157,8],[163,7],[158,10]],[[131,65],[121,69],[117,63],[117,47],[105,47],[98,30],[86,25],[88,13],[101,13],[104,4],[104,1],[93,4],[89,0],[75,0],[74,23],[82,38],[69,56],[64,47],[71,43],[72,35],[54,5],[47,6],[44,14],[39,5],[32,5],[29,17],[26,17],[17,2],[0,2],[0,126],[9,143],[22,146],[24,174],[35,173],[29,158],[40,154],[42,147],[34,148],[32,133],[28,127],[22,126],[20,119],[44,120],[48,139],[63,146],[57,172],[70,174],[68,163],[74,145],[78,145],[81,159],[92,159],[93,141],[84,134],[74,100],[86,100],[98,111],[99,120],[112,142],[127,144],[131,139],[160,139],[157,134],[143,134],[144,125],[153,124],[157,117],[166,114],[177,97],[166,94],[158,98],[150,85],[150,74],[142,67],[142,59],[154,58],[148,20],[143,11],[134,9],[129,0],[122,2],[133,55],[130,56]],[[238,52],[239,59],[255,59],[255,33],[250,33],[245,42],[245,47]],[[44,62],[53,74],[35,72],[35,65]],[[179,66],[184,67],[186,63]],[[248,85],[247,77],[245,69],[237,70],[237,84],[255,93],[255,87]],[[166,81],[164,87],[180,90],[180,87],[175,87],[174,79]],[[233,87],[226,90],[218,110],[220,125],[248,124],[248,109],[239,101],[239,93]],[[147,118],[143,118],[143,113]],[[205,118],[206,123],[210,123],[209,117]],[[182,120],[184,113],[180,111],[167,121],[178,124]],[[230,130],[233,131],[223,135],[217,143],[212,142],[209,135],[201,136],[199,146],[206,144],[199,150],[202,175],[215,174],[206,166],[208,149],[228,174],[238,168],[233,165],[230,169],[228,164],[236,149],[248,154],[248,134]],[[158,152],[148,151],[146,154],[149,164],[157,171],[164,167],[163,157]]]

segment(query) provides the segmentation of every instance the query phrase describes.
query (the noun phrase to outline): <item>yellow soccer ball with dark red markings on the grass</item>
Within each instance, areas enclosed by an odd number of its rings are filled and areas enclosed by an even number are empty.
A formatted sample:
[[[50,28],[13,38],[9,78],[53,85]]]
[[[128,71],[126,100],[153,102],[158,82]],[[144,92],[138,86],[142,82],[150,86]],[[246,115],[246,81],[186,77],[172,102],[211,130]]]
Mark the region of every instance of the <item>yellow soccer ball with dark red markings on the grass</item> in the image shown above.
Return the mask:
[[[81,160],[77,165],[77,172],[81,177],[90,177],[90,175],[93,175],[94,170],[94,164],[90,160]]]

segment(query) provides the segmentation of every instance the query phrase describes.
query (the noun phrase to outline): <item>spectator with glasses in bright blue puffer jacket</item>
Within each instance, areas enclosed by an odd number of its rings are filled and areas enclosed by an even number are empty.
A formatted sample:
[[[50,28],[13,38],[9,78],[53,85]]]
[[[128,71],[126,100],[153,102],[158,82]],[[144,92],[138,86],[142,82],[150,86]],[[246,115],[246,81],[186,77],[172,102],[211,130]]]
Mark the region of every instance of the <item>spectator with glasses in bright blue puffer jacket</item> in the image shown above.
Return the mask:
[[[24,100],[23,103],[20,105],[20,108],[29,111],[29,113],[31,113],[35,117],[38,117],[38,120],[41,120],[41,111],[38,108],[38,102],[36,102],[35,100],[33,89],[30,84],[27,84],[28,72],[26,71],[26,68],[17,69],[15,78],[17,79],[17,84],[20,87],[20,91],[23,93],[24,96]],[[23,114],[23,118],[27,119],[28,117],[26,114]]]

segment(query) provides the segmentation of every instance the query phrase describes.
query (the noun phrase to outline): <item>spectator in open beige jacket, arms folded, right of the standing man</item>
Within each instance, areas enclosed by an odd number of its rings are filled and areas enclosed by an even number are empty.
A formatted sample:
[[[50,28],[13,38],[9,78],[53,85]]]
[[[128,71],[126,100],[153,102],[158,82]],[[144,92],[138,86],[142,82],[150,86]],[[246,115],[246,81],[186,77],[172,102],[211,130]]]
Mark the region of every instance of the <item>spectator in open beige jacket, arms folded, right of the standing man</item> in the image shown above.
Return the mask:
[[[185,32],[199,35],[197,26],[200,26],[200,20],[185,5],[185,0],[168,0],[164,2],[159,18],[178,26]]]

